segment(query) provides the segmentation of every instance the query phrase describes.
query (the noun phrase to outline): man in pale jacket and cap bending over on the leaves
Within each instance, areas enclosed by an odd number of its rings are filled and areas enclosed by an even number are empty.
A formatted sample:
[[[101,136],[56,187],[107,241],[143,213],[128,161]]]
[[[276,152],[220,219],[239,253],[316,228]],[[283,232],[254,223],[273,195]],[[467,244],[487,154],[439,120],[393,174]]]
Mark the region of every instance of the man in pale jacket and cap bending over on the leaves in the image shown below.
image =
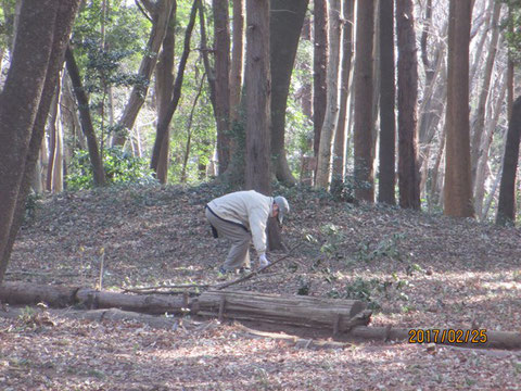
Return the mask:
[[[232,245],[219,272],[234,273],[250,268],[250,243],[258,255],[258,267],[266,267],[266,224],[277,217],[279,224],[290,205],[283,197],[266,197],[254,190],[237,191],[211,201],[205,214],[215,238],[228,238]]]

